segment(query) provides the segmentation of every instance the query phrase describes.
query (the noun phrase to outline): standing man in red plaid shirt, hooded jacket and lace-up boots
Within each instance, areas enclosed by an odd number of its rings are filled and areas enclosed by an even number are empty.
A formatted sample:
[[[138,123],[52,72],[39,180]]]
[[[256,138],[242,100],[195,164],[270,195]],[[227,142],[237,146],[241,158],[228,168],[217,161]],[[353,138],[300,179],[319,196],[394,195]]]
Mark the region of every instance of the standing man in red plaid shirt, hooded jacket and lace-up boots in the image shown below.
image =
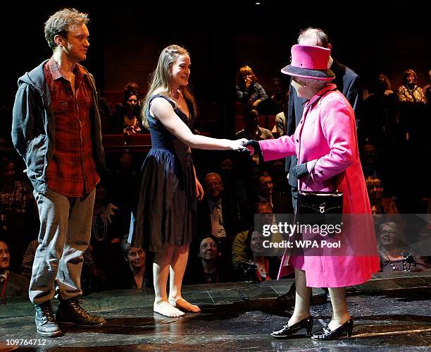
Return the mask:
[[[13,106],[13,145],[25,160],[40,218],[29,296],[37,332],[49,337],[61,334],[57,322],[82,328],[106,322],[89,315],[77,299],[98,171],[104,169],[96,87],[78,63],[87,57],[88,22],[75,9],[49,17],[44,31],[54,54],[18,80]]]

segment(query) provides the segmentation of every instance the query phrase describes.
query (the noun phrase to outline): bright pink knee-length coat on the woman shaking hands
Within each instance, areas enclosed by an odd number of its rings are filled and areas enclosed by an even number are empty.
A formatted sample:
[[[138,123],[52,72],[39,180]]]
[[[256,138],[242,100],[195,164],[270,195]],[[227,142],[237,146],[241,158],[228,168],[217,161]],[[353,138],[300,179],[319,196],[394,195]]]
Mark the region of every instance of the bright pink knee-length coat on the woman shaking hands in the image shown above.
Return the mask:
[[[312,181],[308,186],[299,181],[301,190],[343,192],[344,214],[371,214],[366,183],[359,160],[354,111],[344,95],[327,85],[306,103],[304,114],[294,135],[276,140],[261,140],[263,159],[275,160],[296,154],[298,164],[307,163]],[[333,177],[337,176],[337,177]],[[380,269],[377,244],[371,217],[368,224],[356,221],[349,238],[352,255],[293,257],[285,252],[279,278],[304,269],[308,287],[345,287],[362,284]],[[366,230],[364,230],[366,229]],[[364,255],[363,244],[368,250]],[[361,255],[354,255],[361,253]],[[368,255],[368,253],[370,255]]]

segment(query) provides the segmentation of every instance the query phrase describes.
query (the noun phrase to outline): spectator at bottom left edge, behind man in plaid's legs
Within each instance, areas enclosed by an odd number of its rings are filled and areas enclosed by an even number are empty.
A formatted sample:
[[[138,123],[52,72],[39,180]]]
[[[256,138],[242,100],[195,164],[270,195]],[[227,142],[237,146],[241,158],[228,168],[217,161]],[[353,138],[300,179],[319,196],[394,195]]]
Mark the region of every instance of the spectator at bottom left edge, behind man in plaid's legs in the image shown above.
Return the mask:
[[[11,255],[8,245],[0,240],[0,294],[1,299],[11,296],[26,296],[30,281],[23,275],[9,271]]]

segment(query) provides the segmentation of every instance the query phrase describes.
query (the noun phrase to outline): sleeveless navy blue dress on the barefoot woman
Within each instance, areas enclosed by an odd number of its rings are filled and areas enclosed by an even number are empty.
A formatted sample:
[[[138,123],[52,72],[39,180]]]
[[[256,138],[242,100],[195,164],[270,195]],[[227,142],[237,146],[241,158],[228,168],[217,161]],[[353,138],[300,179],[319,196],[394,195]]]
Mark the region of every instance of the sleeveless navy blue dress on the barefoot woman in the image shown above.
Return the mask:
[[[189,126],[194,121],[192,104],[187,102],[189,119],[168,97],[175,114]],[[132,211],[128,242],[150,252],[164,251],[165,245],[186,245],[197,234],[196,183],[189,147],[170,133],[146,110],[151,133],[151,150],[142,165],[139,197]]]

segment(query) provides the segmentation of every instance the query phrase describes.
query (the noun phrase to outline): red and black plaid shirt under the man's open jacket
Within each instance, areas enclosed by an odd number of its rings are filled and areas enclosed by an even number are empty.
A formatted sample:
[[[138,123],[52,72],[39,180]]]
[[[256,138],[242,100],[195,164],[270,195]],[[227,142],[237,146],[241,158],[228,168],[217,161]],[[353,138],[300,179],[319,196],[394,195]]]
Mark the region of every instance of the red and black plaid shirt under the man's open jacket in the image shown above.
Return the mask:
[[[92,86],[87,71],[80,65],[75,65],[74,73],[75,96],[54,58],[51,57],[44,65],[56,121],[54,154],[45,176],[51,190],[67,197],[82,197],[100,179],[92,157]]]

